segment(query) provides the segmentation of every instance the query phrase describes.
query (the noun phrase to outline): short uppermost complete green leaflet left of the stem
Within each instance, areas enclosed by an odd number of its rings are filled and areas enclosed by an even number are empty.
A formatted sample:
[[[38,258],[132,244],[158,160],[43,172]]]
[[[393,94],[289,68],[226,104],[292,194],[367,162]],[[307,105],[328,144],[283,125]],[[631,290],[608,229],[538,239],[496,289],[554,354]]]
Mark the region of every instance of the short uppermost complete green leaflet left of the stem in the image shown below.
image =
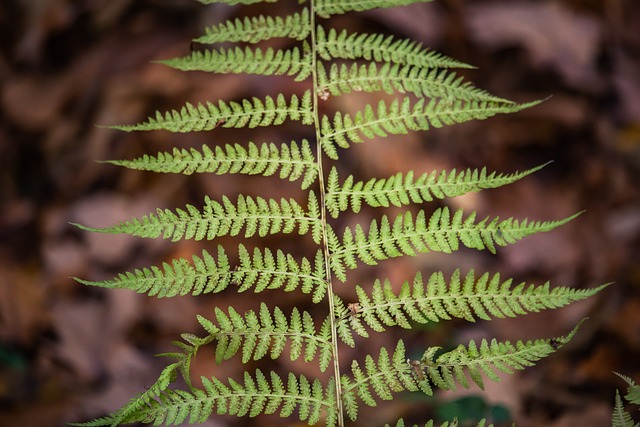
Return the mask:
[[[205,34],[194,39],[197,43],[246,42],[258,43],[275,37],[304,40],[311,33],[309,9],[285,17],[254,16],[225,21],[205,29]]]

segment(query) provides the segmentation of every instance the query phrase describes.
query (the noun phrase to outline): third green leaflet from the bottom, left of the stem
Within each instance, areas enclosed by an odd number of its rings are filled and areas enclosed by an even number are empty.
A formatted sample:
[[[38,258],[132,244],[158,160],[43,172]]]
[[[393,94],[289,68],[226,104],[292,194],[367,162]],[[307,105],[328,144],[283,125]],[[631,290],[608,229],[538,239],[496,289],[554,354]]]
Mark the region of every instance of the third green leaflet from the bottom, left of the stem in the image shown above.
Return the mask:
[[[302,257],[296,260],[291,254],[278,250],[275,254],[268,248],[254,249],[253,255],[238,245],[239,265],[232,268],[227,254],[218,245],[217,259],[206,250],[202,255],[163,263],[161,267],[136,269],[120,273],[102,281],[74,278],[79,283],[108,289],[129,289],[149,296],[168,298],[182,295],[218,293],[235,285],[238,292],[254,288],[255,292],[265,289],[280,289],[291,292],[300,287],[305,294],[313,294],[313,301],[319,302],[327,291],[323,275],[322,252],[317,251],[315,261]]]

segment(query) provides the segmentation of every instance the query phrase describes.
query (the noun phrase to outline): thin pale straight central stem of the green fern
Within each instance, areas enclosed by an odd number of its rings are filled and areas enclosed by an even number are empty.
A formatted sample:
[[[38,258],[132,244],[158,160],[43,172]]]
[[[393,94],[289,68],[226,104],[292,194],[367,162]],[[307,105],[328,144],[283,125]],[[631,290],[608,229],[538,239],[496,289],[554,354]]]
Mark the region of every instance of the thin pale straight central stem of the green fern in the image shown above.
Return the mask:
[[[342,385],[340,383],[340,358],[338,354],[338,328],[336,325],[335,301],[333,293],[333,279],[329,262],[329,243],[327,237],[327,207],[325,203],[326,190],[322,164],[322,135],[320,133],[320,116],[318,112],[318,54],[316,52],[316,24],[314,1],[309,2],[309,16],[311,25],[311,75],[313,76],[313,120],[316,131],[316,158],[318,162],[318,182],[320,191],[320,219],[322,221],[322,246],[324,250],[324,268],[327,279],[327,303],[329,304],[329,321],[331,322],[331,343],[333,352],[333,376],[336,395],[337,425],[344,427],[344,410],[342,408]]]

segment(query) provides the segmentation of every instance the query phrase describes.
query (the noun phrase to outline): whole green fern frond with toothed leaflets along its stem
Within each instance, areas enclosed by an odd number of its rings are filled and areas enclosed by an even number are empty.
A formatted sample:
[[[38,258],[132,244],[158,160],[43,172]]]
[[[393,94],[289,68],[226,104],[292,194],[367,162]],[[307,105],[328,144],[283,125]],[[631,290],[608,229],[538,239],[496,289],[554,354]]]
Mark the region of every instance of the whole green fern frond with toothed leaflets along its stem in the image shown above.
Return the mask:
[[[200,1],[248,5],[261,0]],[[368,337],[395,326],[412,329],[452,318],[473,322],[514,317],[559,308],[602,289],[514,284],[498,274],[460,270],[448,276],[431,272],[425,278],[418,272],[395,285],[384,278],[369,284],[349,283],[348,272],[364,264],[427,252],[450,253],[462,247],[493,253],[500,246],[550,231],[576,216],[549,221],[479,218],[476,212],[444,204],[435,210],[427,206],[436,199],[513,183],[544,165],[510,174],[484,168],[406,170],[366,181],[340,172],[340,158],[353,144],[486,119],[538,103],[519,104],[478,89],[454,71],[470,68],[468,65],[410,39],[332,27],[335,15],[420,1],[427,0],[300,0],[298,10],[287,16],[277,15],[276,3],[270,7],[272,16],[237,18],[208,28],[196,41],[211,44],[210,50],[162,61],[180,70],[255,74],[265,79],[289,76],[306,88],[300,86],[304,89],[287,96],[274,93],[263,98],[186,104],[158,112],[139,124],[114,126],[116,129],[215,134],[216,128],[299,122],[308,138],[174,148],[110,163],[153,172],[245,174],[297,181],[306,196],[274,199],[241,194],[219,200],[205,196],[201,207],[158,209],[105,228],[81,225],[94,232],[206,240],[213,246],[189,259],[136,269],[110,280],[78,280],[156,297],[227,289],[253,290],[257,296],[267,290],[300,292],[313,304],[325,307],[325,315],[318,318],[306,310],[283,310],[273,304],[273,297],[257,311],[215,307],[198,317],[204,329],[200,336],[184,334],[183,340],[176,342],[177,350],[166,354],[173,363],[155,384],[111,415],[79,425],[177,425],[204,422],[214,413],[241,417],[278,413],[310,425],[343,426],[356,421],[363,406],[376,406],[399,392],[431,395],[435,389],[469,387],[471,383],[482,388],[485,379],[498,380],[497,372],[531,366],[573,336],[575,330],[563,337],[526,342],[471,341],[450,351],[427,347],[420,351],[420,357],[410,357],[415,353],[408,352],[399,340],[392,348],[348,360],[347,354],[352,353],[344,349],[355,346],[354,335]],[[275,38],[288,39],[291,47],[262,46]],[[328,112],[331,100],[354,92],[384,96],[360,111]],[[360,219],[344,225],[341,218],[359,213],[363,205],[377,210],[393,207],[393,211],[368,222]],[[241,239],[283,234],[291,239],[309,235],[315,252],[287,253],[248,247],[247,242],[236,246],[213,243],[229,236]],[[346,287],[355,291],[349,294],[355,294],[356,299],[340,296]],[[218,363],[234,357],[243,363],[288,357],[315,364],[318,377],[254,369],[241,378],[202,378],[202,387],[197,388],[192,385],[190,366],[196,353],[207,345],[213,346]],[[207,352],[200,351],[200,357]],[[184,390],[173,384],[178,375],[187,384]],[[388,422],[404,425],[401,419]],[[425,423],[432,425],[429,420]]]

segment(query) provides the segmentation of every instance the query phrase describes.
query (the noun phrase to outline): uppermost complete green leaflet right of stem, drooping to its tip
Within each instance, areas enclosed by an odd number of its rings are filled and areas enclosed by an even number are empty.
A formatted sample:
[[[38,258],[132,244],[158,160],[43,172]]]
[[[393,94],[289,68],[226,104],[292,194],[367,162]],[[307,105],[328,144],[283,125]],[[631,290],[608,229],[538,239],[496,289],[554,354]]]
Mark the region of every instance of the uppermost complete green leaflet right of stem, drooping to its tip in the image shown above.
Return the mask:
[[[343,2],[353,4],[350,0]],[[366,59],[376,62],[392,62],[422,68],[473,68],[449,58],[412,39],[398,39],[383,34],[337,32],[322,26],[317,28],[317,53],[325,61],[333,59]]]

